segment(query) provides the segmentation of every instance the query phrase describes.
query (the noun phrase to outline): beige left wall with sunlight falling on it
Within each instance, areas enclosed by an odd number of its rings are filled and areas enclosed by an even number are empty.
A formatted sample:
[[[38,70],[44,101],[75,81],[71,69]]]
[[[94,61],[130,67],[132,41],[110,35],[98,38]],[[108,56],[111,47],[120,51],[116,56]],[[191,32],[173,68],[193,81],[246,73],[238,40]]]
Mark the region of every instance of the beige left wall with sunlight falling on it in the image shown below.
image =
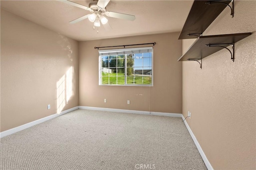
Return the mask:
[[[71,66],[73,93],[62,108],[56,85]],[[57,104],[78,106],[76,89],[78,42],[1,9],[1,131],[57,113]]]

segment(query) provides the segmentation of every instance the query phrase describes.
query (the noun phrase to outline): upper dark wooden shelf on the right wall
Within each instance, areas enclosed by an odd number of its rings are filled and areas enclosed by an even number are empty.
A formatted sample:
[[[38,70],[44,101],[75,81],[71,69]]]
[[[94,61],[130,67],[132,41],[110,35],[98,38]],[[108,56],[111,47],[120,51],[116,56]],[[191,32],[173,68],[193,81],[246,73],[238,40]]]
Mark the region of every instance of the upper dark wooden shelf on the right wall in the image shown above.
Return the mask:
[[[211,4],[207,4],[208,2],[211,2]],[[188,18],[183,26],[183,29],[180,33],[179,39],[197,38],[227,7],[226,4],[230,4],[230,2],[231,0],[195,0],[194,4],[191,7],[190,13],[188,14]],[[198,34],[198,36],[188,34]]]

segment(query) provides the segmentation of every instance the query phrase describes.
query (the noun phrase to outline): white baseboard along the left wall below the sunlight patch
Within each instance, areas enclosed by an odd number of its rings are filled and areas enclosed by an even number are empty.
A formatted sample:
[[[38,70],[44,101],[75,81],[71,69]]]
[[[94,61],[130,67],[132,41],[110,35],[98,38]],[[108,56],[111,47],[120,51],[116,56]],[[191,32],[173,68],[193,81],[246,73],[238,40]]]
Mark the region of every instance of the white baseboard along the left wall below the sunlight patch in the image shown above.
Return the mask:
[[[76,109],[78,109],[78,106],[73,107],[73,108],[71,108],[71,109],[64,110],[64,111],[62,111],[62,112],[60,112],[60,113],[55,113],[55,114],[53,114],[53,115],[44,117],[44,118],[42,118],[42,119],[38,119],[38,120],[32,121],[32,122],[30,122],[30,123],[26,123],[26,124],[21,125],[21,126],[18,126],[18,127],[14,127],[14,128],[9,129],[9,130],[7,130],[7,131],[0,132],[0,138],[5,137],[5,136],[7,136],[7,135],[11,135],[11,134],[16,133],[16,132],[18,132],[18,131],[24,130],[24,129],[28,128],[28,127],[32,127],[32,126],[37,125],[37,124],[39,124],[39,123],[42,123],[42,122],[44,122],[44,121],[48,121],[48,120],[53,119],[53,118],[55,118],[55,117],[58,117],[58,116],[60,116],[60,115],[64,115],[65,113],[68,113],[68,112],[73,111],[73,110],[76,110]]]

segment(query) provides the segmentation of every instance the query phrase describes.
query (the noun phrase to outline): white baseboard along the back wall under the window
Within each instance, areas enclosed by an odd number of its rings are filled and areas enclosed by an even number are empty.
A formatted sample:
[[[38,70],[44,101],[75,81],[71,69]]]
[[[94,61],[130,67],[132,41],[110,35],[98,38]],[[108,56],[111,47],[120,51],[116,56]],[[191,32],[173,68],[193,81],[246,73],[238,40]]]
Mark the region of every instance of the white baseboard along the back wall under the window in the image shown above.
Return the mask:
[[[120,112],[120,113],[134,113],[134,114],[143,114],[143,115],[169,116],[169,117],[181,117],[181,115],[182,115],[180,113],[162,113],[162,112],[154,112],[154,111],[111,109],[111,108],[89,107],[89,106],[79,106],[79,109],[98,110],[98,111],[112,111],[112,112]]]

